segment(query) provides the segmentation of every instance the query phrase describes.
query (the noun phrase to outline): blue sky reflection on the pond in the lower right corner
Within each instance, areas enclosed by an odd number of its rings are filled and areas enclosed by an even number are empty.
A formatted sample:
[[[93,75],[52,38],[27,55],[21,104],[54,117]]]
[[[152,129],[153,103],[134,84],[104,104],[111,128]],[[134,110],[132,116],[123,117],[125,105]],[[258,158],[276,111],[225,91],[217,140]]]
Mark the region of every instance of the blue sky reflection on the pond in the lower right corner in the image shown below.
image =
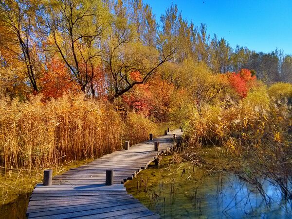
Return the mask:
[[[206,210],[205,216],[208,218],[288,217],[288,215],[285,214],[285,207],[288,209],[291,209],[291,207],[288,203],[286,205],[279,205],[282,197],[275,186],[269,183],[265,183],[263,186],[267,196],[271,198],[271,204],[269,205],[270,209],[267,209],[266,202],[259,192],[257,192],[253,186],[238,180],[236,176],[223,176],[222,185],[220,182],[219,184],[217,183],[219,192],[214,190],[215,184],[214,180],[210,179],[211,177],[215,176],[208,176],[206,178],[206,181],[209,181],[209,183],[201,186],[202,192],[198,189],[200,192],[200,199],[204,200],[204,209]],[[209,188],[209,191],[206,190],[206,186]],[[267,199],[267,201],[269,200]]]

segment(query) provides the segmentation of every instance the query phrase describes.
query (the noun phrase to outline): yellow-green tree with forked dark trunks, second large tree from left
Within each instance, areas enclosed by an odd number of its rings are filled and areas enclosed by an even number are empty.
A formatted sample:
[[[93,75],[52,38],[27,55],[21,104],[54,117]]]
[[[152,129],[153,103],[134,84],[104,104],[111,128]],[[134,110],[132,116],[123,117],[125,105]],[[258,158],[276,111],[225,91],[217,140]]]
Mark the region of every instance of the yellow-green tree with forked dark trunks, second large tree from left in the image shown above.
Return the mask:
[[[88,96],[96,96],[94,77],[102,37],[110,17],[101,0],[49,0],[43,5],[44,33],[51,53],[57,52]],[[51,43],[50,43],[51,42]]]

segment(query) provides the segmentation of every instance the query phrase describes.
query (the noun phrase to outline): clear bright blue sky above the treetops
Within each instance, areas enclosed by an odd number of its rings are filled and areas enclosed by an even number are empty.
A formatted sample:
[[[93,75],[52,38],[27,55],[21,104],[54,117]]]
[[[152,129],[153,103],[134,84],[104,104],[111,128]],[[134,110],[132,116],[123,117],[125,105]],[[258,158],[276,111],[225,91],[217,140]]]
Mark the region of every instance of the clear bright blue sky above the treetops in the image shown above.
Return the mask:
[[[160,20],[171,2],[196,26],[207,24],[213,37],[235,48],[270,52],[276,47],[292,54],[292,0],[144,0]]]

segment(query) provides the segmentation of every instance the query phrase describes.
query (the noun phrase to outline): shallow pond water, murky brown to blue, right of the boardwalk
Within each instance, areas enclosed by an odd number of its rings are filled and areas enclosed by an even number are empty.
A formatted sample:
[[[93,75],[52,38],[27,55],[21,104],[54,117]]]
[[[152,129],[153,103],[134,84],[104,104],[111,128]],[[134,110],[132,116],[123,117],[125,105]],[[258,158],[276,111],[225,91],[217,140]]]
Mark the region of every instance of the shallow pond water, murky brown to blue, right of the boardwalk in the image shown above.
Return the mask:
[[[292,218],[292,202],[265,182],[267,202],[237,175],[211,173],[191,163],[148,168],[126,184],[127,191],[162,218]]]

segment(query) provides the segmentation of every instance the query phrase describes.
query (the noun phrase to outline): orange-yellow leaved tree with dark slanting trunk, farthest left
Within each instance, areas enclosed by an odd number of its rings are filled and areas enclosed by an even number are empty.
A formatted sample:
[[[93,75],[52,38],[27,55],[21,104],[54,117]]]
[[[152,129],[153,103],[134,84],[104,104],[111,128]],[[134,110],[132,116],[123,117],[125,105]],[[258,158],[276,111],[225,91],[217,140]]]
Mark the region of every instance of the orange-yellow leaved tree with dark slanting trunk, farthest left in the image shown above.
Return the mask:
[[[24,63],[25,74],[35,92],[38,92],[36,12],[37,1],[0,0],[0,26],[4,25],[5,34],[11,34],[12,43],[2,44],[7,51],[13,52]]]

